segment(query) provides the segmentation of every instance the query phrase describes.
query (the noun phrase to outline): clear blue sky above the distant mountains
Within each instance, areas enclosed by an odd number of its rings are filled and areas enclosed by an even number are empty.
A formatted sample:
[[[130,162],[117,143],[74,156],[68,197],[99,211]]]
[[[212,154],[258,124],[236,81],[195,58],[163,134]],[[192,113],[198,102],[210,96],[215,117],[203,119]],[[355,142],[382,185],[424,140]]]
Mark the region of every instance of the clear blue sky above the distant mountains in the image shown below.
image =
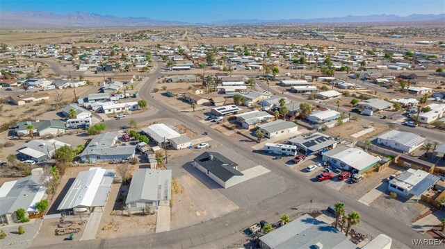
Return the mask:
[[[309,19],[346,15],[442,14],[444,0],[0,0],[1,11],[94,12],[180,22]]]

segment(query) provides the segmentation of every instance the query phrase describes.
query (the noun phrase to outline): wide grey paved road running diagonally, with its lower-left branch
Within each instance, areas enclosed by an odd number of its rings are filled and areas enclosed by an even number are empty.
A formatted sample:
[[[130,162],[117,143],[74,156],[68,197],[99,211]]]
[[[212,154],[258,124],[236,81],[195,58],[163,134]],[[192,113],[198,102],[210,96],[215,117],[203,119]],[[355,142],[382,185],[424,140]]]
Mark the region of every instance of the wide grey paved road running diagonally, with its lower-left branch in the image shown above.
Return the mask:
[[[233,241],[241,239],[242,234],[239,232],[241,229],[261,219],[278,220],[280,214],[289,213],[289,209],[292,207],[308,203],[310,198],[314,198],[314,205],[320,207],[342,201],[348,210],[359,212],[362,215],[362,221],[373,227],[373,230],[380,230],[396,240],[398,248],[410,246],[411,239],[428,238],[426,235],[418,234],[405,223],[398,221],[389,214],[367,207],[353,198],[325,187],[323,184],[312,182],[305,176],[277,162],[277,160],[272,160],[268,155],[254,154],[248,146],[235,141],[232,137],[227,137],[196,121],[193,117],[181,114],[170,106],[164,105],[161,101],[156,101],[150,95],[150,88],[159,75],[160,69],[154,71],[150,80],[140,90],[140,96],[154,108],[157,108],[162,113],[162,117],[180,119],[186,125],[195,128],[197,132],[204,130],[209,132],[209,136],[213,139],[230,146],[238,153],[249,157],[250,160],[264,165],[270,171],[280,175],[282,180],[286,182],[286,190],[282,194],[268,198],[256,205],[243,207],[225,216],[191,227],[138,237],[79,241],[76,244],[66,244],[67,248],[223,248]],[[264,184],[267,184],[267,182]],[[45,248],[58,248],[59,246],[50,245]]]

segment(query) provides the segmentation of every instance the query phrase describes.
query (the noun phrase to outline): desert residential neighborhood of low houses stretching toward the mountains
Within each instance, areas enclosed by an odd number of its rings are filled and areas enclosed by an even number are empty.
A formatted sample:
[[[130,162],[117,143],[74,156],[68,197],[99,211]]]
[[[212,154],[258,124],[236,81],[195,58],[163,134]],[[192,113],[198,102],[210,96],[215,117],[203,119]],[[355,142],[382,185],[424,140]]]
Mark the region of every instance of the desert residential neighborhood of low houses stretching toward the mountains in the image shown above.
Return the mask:
[[[143,18],[0,33],[0,247],[444,241],[442,23]]]

